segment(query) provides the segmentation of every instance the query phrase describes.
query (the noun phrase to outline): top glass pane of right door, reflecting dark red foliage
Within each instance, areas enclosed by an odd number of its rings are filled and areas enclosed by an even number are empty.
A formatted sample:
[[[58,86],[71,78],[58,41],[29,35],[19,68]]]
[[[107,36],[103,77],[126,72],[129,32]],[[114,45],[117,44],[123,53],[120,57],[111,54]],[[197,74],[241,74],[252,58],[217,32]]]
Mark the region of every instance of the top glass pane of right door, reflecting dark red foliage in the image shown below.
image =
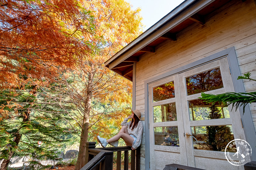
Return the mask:
[[[220,68],[208,70],[186,78],[187,94],[197,94],[223,88]]]

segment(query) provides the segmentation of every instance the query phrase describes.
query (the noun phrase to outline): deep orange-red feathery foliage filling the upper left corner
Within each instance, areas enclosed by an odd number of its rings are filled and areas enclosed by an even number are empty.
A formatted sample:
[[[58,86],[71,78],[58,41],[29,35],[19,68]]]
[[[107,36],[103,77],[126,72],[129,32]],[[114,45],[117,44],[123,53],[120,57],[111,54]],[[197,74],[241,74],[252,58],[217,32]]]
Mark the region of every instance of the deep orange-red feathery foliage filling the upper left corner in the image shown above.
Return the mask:
[[[1,1],[1,87],[20,84],[20,74],[49,77],[56,66],[74,66],[88,53],[91,20],[76,0]]]

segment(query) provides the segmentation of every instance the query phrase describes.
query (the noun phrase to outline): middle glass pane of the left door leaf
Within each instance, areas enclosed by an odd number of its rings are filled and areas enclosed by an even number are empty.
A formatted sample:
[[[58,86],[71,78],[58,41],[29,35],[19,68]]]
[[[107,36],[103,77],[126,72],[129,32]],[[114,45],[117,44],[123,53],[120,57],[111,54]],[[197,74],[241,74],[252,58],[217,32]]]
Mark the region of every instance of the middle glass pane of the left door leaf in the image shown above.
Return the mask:
[[[154,106],[154,122],[177,121],[176,104]]]

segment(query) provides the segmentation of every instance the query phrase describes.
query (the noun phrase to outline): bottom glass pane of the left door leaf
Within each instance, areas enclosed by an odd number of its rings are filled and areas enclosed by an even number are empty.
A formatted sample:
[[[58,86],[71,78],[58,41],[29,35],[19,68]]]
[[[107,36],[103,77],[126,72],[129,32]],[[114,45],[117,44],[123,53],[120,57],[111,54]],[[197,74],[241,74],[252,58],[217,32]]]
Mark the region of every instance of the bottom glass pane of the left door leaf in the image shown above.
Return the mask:
[[[155,145],[180,146],[177,126],[154,127]]]

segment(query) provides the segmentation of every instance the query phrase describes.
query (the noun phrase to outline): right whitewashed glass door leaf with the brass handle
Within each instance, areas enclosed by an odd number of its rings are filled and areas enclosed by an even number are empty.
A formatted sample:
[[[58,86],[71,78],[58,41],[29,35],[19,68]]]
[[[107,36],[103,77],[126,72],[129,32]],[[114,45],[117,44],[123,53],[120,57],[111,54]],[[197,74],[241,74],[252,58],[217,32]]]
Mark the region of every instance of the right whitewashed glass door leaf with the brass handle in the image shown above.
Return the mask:
[[[206,103],[199,99],[201,92],[234,92],[227,58],[183,72],[179,74],[179,82],[188,166],[240,169],[225,157],[230,141],[245,140],[239,112],[224,107],[225,103]],[[228,148],[228,152],[235,153],[236,147]]]

